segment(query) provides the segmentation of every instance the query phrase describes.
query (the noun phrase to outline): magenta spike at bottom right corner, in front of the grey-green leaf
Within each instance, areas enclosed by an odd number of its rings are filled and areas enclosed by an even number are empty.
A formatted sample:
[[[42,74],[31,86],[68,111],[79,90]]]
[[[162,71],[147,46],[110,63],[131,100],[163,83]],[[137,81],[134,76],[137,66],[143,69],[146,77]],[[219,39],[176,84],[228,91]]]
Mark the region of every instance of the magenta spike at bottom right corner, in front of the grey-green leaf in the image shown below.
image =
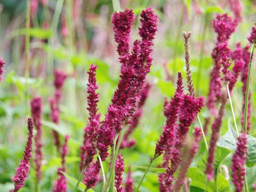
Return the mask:
[[[247,147],[246,147],[247,139],[246,134],[242,133],[237,138],[237,148],[236,152],[232,158],[232,181],[234,186],[236,187],[236,192],[241,192],[244,186],[244,177],[246,174],[245,171],[245,161],[247,159]]]

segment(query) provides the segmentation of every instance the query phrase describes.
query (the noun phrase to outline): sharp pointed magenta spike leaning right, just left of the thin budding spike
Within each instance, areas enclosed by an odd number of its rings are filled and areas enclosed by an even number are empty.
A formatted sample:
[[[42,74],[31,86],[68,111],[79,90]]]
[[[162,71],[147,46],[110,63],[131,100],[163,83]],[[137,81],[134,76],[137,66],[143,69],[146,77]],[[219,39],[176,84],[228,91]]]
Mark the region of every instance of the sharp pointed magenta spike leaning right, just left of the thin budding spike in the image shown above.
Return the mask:
[[[165,114],[166,123],[163,127],[163,133],[160,136],[155,148],[154,158],[163,154],[163,151],[167,146],[171,146],[174,143],[175,134],[177,131],[177,119],[179,115],[180,105],[183,98],[183,84],[181,73],[178,73],[177,89],[174,93],[174,97],[171,99]]]

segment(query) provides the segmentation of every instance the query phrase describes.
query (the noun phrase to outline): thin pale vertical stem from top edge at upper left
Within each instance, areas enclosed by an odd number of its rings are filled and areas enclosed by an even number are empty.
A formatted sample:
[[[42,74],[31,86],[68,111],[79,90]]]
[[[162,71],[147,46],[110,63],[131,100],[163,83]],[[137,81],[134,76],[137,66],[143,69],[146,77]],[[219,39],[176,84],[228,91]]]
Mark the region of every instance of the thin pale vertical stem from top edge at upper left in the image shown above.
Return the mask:
[[[30,0],[27,0],[27,7],[26,7],[26,45],[25,45],[25,73],[26,73],[26,113],[29,113],[29,103],[28,103],[28,78],[29,78],[29,68],[30,68],[30,58],[29,58],[29,49],[30,49]]]

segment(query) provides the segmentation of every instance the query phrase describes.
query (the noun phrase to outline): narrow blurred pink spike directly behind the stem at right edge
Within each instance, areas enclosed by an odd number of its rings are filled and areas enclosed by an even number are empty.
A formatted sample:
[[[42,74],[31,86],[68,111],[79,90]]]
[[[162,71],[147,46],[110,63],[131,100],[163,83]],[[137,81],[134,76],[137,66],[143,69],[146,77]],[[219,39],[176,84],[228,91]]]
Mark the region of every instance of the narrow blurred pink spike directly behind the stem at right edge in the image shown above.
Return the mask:
[[[242,78],[241,81],[243,83],[242,92],[243,92],[243,109],[241,114],[241,124],[244,124],[244,106],[245,106],[245,95],[246,95],[246,86],[247,86],[247,77],[248,77],[248,71],[249,71],[249,61],[250,61],[250,51],[249,51],[250,45],[247,45],[243,49],[243,60],[244,60],[244,68],[242,70]],[[249,101],[248,101],[248,111],[247,111],[247,131],[251,128],[251,91],[249,92]]]

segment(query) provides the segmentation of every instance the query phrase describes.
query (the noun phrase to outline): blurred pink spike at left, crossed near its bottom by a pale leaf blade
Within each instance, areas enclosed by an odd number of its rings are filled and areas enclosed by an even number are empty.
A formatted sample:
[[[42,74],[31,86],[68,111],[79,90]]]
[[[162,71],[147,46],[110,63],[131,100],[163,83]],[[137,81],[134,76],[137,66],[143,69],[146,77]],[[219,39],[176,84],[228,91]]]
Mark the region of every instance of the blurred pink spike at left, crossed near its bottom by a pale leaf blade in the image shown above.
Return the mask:
[[[51,118],[52,121],[56,124],[59,123],[59,105],[60,105],[60,99],[62,96],[61,89],[65,82],[65,79],[67,78],[67,74],[65,74],[62,71],[54,70],[54,87],[55,87],[55,93],[54,97],[49,99],[50,107],[51,107]],[[53,138],[54,138],[54,145],[57,146],[58,150],[60,150],[60,139],[59,134],[56,131],[52,131]]]

